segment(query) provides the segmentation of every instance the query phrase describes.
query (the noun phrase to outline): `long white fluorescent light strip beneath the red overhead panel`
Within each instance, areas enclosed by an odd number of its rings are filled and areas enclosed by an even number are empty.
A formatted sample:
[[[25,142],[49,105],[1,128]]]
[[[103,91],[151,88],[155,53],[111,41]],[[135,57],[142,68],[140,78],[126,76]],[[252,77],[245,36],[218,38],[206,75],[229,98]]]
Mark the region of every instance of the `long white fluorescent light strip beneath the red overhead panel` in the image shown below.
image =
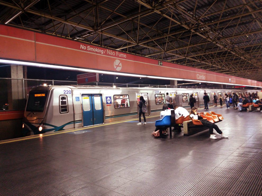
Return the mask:
[[[0,63],[38,66],[38,67],[45,67],[45,68],[52,68],[52,69],[64,69],[64,70],[72,70],[72,71],[78,70],[78,71],[83,71],[83,72],[94,72],[94,73],[99,73],[99,74],[122,75],[122,76],[131,76],[131,77],[139,77],[139,78],[141,77],[141,78],[152,78],[152,79],[162,79],[162,80],[179,80],[179,81],[205,82],[205,83],[214,83],[214,84],[243,85],[243,84],[231,84],[231,83],[222,83],[222,82],[211,82],[211,81],[204,81],[204,80],[189,80],[189,79],[167,78],[167,77],[150,76],[150,75],[127,74],[127,73],[119,73],[119,72],[113,72],[113,71],[100,71],[100,70],[93,70],[93,69],[73,68],[73,67],[66,67],[66,66],[60,66],[60,65],[30,63],[30,62],[24,62],[24,61],[14,61],[14,60],[5,60],[5,59],[0,59]],[[252,86],[252,85],[245,85],[245,86],[262,88],[260,86]]]

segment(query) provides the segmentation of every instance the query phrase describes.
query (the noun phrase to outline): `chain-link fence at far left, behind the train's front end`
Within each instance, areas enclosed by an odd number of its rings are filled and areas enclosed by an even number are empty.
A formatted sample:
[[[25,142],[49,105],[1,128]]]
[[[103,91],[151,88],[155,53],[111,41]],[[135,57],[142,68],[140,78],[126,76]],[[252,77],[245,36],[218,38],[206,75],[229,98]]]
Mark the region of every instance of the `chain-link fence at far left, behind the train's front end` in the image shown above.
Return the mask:
[[[38,85],[76,85],[75,81],[0,78],[0,111],[24,110],[29,91]]]

